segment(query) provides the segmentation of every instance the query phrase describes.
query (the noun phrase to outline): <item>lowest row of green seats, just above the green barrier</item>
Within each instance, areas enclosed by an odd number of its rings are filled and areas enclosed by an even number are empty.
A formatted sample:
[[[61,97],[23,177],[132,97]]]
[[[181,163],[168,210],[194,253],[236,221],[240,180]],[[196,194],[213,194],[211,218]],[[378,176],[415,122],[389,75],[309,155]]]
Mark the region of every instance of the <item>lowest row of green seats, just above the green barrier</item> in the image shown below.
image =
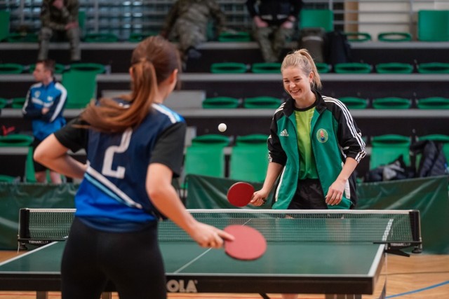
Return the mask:
[[[225,176],[225,147],[232,146],[229,161],[229,178],[260,182],[267,172],[267,138],[265,134],[250,134],[231,138],[221,134],[205,134],[192,139],[192,145],[185,154],[185,174],[206,176]],[[0,137],[0,146],[29,146],[32,137],[23,134],[10,134]],[[431,140],[443,144],[443,153],[449,160],[449,135],[429,134],[417,137],[417,141]],[[410,166],[410,145],[412,139],[398,134],[385,134],[371,137],[370,169],[387,165],[402,155],[403,161]],[[34,178],[32,152],[29,150],[25,174],[28,180]],[[1,178],[0,178],[1,179]]]

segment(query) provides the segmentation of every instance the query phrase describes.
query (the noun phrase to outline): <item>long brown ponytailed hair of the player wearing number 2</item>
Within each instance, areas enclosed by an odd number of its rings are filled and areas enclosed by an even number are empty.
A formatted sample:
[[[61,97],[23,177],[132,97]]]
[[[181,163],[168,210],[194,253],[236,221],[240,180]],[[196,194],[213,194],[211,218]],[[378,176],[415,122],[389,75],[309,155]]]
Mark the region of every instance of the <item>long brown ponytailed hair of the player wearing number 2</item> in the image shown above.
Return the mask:
[[[90,127],[100,132],[123,132],[142,123],[149,113],[159,83],[180,69],[180,57],[172,43],[160,36],[150,36],[133,51],[130,95],[121,96],[129,104],[113,99],[92,101],[81,114]]]

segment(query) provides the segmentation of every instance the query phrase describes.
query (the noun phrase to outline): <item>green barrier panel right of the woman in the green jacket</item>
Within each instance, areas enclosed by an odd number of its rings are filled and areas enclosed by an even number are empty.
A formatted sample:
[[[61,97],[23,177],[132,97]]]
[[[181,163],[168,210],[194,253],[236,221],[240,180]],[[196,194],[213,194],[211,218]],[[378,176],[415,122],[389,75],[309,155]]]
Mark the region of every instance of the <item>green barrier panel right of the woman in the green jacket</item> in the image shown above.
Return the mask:
[[[449,253],[449,176],[361,183],[357,209],[418,209],[423,252]]]

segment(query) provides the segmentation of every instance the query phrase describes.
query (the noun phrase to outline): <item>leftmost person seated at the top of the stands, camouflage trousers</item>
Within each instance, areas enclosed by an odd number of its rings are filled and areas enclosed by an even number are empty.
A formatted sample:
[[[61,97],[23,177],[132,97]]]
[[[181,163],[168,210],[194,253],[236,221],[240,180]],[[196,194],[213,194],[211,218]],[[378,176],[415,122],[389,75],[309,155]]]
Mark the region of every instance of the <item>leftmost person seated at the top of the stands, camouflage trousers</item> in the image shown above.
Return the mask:
[[[65,32],[70,43],[72,62],[81,60],[79,48],[78,0],[43,0],[41,6],[41,31],[39,32],[38,60],[46,60],[48,45],[53,33]]]

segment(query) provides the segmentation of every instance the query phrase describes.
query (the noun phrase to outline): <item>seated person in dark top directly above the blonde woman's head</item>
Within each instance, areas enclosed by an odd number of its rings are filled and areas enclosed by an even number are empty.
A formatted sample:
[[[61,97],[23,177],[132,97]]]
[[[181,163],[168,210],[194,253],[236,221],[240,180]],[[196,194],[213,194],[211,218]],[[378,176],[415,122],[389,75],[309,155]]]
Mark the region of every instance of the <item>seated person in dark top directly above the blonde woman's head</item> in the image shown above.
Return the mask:
[[[265,62],[279,62],[286,41],[295,33],[302,0],[247,0],[253,35]]]

